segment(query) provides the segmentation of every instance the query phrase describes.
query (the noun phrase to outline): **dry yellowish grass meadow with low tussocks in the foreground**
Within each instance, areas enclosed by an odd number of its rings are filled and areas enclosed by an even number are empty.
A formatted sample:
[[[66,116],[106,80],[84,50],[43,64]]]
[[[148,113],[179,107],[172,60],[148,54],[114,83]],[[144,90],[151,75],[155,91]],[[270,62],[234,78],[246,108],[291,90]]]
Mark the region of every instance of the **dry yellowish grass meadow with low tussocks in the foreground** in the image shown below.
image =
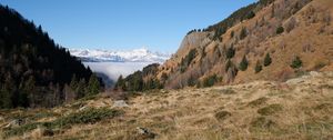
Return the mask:
[[[12,140],[333,139],[332,93],[332,72],[310,72],[286,82],[137,92],[125,102],[101,96],[50,110],[1,110],[0,126]],[[24,121],[9,124],[18,119]]]

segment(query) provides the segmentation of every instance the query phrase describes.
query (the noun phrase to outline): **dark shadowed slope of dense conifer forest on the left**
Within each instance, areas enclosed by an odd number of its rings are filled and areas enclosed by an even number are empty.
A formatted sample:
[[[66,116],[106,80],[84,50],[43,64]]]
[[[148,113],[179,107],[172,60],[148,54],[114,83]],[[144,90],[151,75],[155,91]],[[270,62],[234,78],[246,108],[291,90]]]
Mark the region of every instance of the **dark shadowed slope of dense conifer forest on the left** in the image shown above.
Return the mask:
[[[53,107],[95,94],[100,79],[41,26],[0,6],[0,108]]]

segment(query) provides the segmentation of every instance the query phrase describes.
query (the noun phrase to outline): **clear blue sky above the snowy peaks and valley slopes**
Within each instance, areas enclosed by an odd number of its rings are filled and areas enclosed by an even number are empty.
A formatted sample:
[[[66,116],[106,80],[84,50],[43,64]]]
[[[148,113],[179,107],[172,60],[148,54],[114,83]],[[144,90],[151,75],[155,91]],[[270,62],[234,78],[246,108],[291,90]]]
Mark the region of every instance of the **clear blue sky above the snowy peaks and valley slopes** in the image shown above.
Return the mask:
[[[189,30],[256,0],[0,0],[67,48],[174,52]]]

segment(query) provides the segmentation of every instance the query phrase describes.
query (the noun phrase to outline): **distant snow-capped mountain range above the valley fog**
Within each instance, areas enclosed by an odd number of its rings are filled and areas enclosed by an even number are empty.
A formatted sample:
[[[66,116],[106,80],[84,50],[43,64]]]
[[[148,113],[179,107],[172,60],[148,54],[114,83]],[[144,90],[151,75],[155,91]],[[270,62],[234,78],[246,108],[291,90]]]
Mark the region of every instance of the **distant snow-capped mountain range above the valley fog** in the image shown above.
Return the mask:
[[[168,53],[152,52],[145,48],[129,51],[70,49],[72,56],[83,62],[164,62],[170,58]]]

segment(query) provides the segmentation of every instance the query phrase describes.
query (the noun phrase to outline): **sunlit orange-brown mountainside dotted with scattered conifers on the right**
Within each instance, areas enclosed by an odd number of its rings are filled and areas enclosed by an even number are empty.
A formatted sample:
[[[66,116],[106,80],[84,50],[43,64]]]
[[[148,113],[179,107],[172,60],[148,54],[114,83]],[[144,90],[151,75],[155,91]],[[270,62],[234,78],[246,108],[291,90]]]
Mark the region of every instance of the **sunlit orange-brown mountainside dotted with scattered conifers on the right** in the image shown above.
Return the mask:
[[[333,69],[331,0],[260,0],[185,36],[154,76],[167,89],[276,80]],[[143,78],[147,79],[147,78]]]

